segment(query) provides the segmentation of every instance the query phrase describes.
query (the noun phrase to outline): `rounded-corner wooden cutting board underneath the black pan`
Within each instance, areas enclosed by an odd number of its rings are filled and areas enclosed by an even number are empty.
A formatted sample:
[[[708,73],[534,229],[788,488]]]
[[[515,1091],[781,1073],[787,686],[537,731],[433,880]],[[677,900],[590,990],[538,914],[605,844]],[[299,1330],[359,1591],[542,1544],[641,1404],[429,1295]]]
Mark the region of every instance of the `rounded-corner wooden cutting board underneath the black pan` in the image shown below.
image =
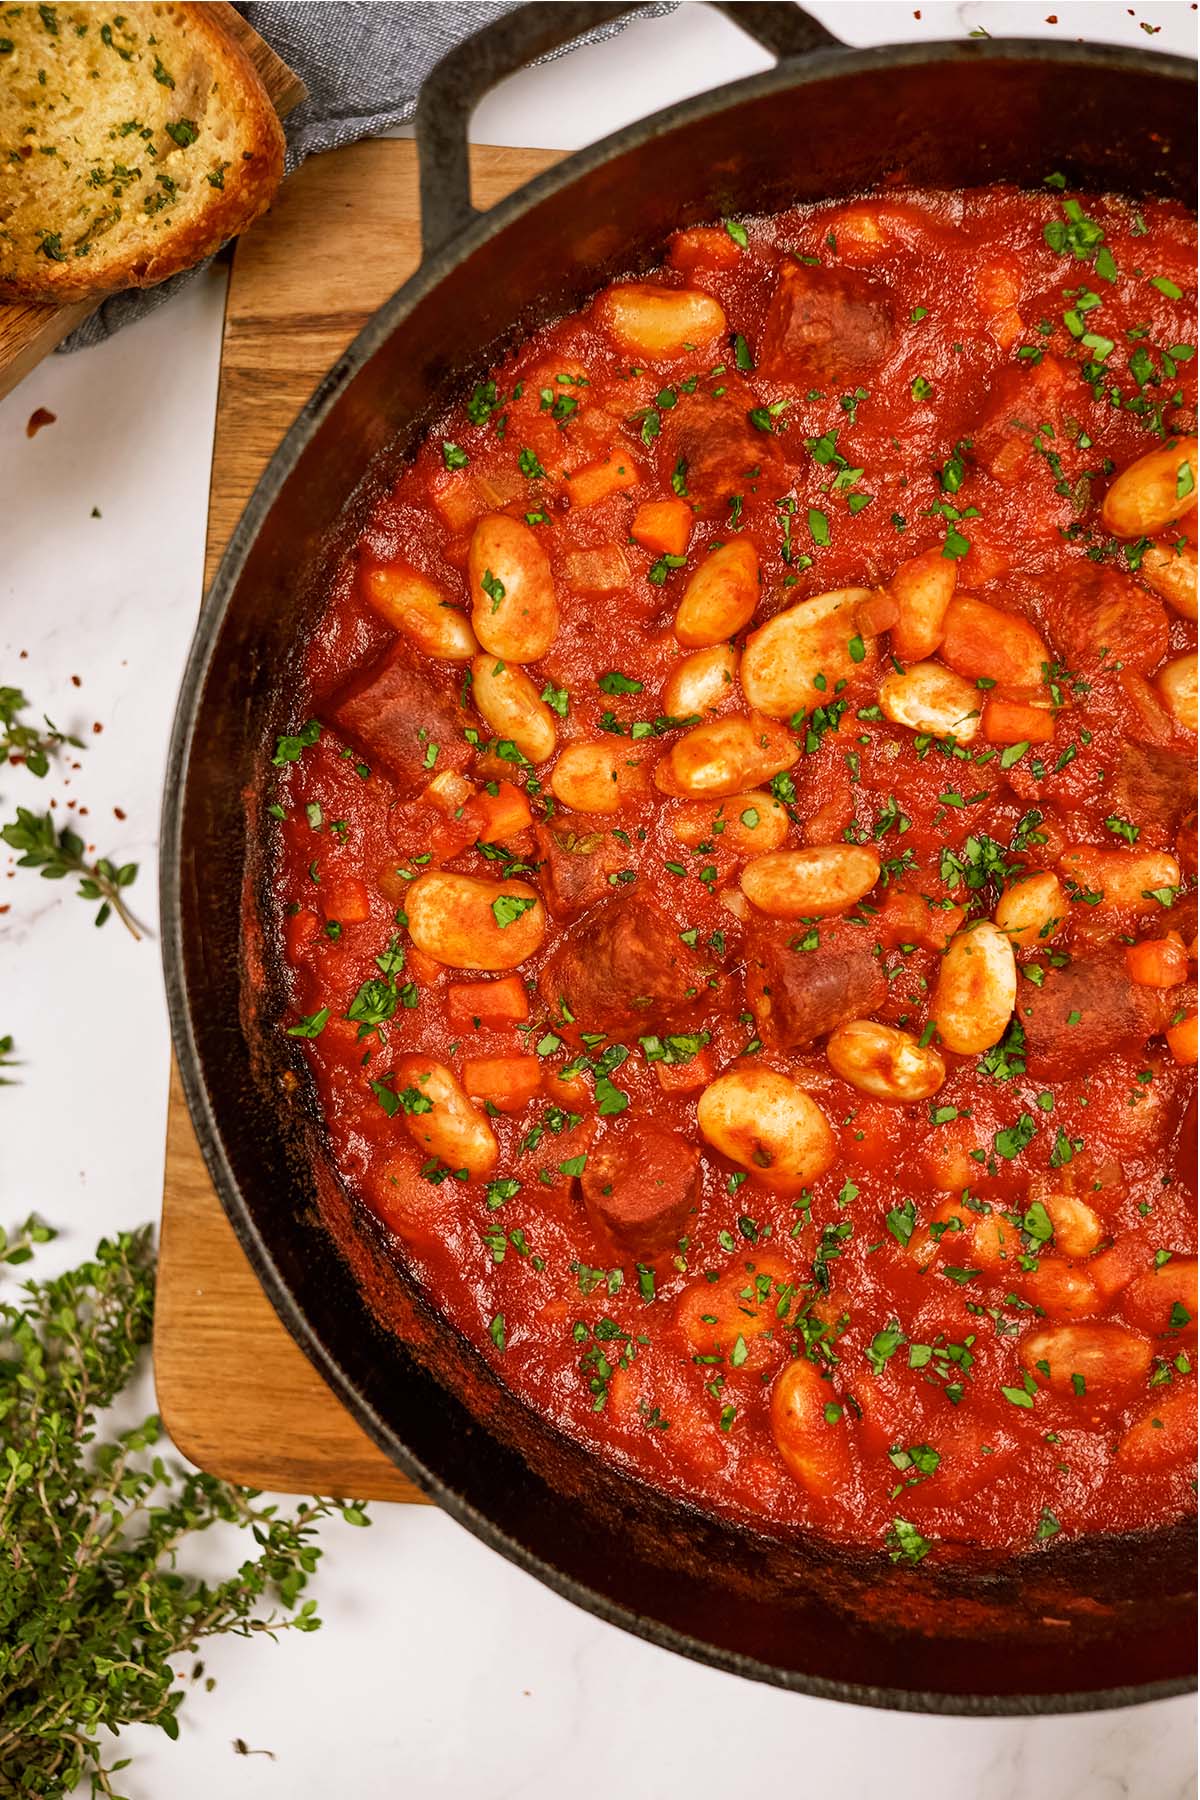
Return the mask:
[[[471,153],[488,207],[560,151]],[[417,266],[412,142],[329,151],[293,175],[243,238],[225,304],[205,587],[250,491],[318,378]],[[193,1462],[248,1487],[425,1496],[371,1444],[279,1323],[221,1211],[171,1067],[155,1381]]]

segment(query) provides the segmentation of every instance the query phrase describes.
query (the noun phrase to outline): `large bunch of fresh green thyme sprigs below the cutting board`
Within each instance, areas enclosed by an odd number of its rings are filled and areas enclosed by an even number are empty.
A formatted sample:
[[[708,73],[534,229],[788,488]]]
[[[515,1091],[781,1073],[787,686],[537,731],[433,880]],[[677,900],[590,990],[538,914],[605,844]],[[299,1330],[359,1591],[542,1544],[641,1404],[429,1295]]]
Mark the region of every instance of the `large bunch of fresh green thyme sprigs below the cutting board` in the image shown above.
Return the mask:
[[[50,1235],[31,1220],[4,1260]],[[99,1415],[149,1345],[153,1298],[144,1229],[0,1305],[0,1787],[11,1795],[65,1800],[86,1780],[94,1796],[115,1796],[128,1759],[104,1760],[110,1732],[180,1733],[187,1688],[169,1658],[210,1636],[317,1631],[317,1602],[302,1598],[317,1525],[369,1523],[358,1501],[306,1499],[288,1516],[252,1489],[173,1467],[155,1451],[155,1417],[97,1442]],[[223,1580],[184,1575],[180,1546],[212,1525],[250,1532],[257,1555]]]

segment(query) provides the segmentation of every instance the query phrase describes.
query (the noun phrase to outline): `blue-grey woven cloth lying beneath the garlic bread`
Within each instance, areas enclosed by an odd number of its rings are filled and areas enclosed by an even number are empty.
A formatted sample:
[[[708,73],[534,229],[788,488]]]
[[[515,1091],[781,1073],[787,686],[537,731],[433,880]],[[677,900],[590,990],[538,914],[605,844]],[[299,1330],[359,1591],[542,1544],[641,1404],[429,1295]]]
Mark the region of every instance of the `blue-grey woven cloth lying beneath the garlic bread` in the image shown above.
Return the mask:
[[[284,119],[288,173],[317,151],[356,144],[362,137],[407,124],[434,63],[513,9],[515,0],[453,5],[444,0],[426,0],[425,5],[396,5],[392,0],[246,0],[237,7],[241,16],[308,88],[304,104]],[[671,4],[646,5],[633,16],[653,18],[673,11]],[[626,23],[630,18],[594,25],[552,56],[612,38]],[[113,293],[58,346],[59,351],[101,344],[162,306],[196,274],[198,268],[187,268],[157,288]]]

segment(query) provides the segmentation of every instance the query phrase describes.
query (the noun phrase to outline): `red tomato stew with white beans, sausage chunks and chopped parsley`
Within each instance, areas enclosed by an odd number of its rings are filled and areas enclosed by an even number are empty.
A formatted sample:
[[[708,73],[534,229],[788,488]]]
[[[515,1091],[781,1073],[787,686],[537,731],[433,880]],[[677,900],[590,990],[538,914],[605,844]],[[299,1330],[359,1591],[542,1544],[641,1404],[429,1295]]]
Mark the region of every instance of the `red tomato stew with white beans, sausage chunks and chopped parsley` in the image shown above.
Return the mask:
[[[1052,178],[684,232],[378,504],[275,758],[281,1030],[597,1456],[912,1561],[1191,1505],[1193,432],[1191,218]]]

